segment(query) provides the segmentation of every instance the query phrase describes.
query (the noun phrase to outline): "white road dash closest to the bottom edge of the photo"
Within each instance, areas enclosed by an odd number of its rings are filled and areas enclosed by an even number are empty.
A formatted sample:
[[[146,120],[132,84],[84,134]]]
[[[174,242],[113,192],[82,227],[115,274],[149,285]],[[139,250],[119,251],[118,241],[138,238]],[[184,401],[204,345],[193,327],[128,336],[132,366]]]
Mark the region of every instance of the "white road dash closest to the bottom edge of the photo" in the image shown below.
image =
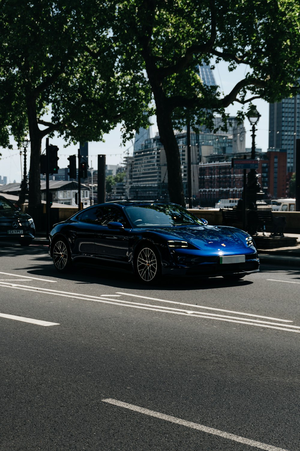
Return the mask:
[[[268,445],[267,443],[256,442],[255,440],[251,440],[249,438],[240,437],[235,434],[219,431],[219,429],[209,428],[207,426],[204,426],[203,424],[192,423],[191,421],[186,421],[177,417],[172,417],[170,415],[161,414],[160,412],[144,409],[143,407],[139,407],[138,405],[128,404],[126,402],[118,401],[116,399],[107,398],[103,399],[102,401],[107,402],[108,404],[116,405],[118,407],[123,407],[124,409],[133,410],[134,412],[138,412],[139,414],[149,415],[151,417],[169,421],[170,423],[180,424],[181,426],[185,426],[187,428],[197,429],[198,431],[205,432],[207,434],[217,435],[218,437],[233,440],[234,442],[242,443],[243,445],[253,446],[254,448],[258,448],[261,450],[288,451],[283,448],[278,448],[277,446]]]

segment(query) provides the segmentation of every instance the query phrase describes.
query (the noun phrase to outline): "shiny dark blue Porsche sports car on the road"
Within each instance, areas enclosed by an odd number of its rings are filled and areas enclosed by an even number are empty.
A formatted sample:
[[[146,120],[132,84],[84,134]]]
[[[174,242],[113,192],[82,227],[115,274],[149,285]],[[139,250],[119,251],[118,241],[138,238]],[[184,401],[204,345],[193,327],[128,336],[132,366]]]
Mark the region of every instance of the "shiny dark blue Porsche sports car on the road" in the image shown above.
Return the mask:
[[[259,271],[252,237],[234,227],[209,226],[175,203],[107,202],[55,224],[49,254],[56,269],[72,262],[126,267],[145,283],[162,274],[238,280]]]

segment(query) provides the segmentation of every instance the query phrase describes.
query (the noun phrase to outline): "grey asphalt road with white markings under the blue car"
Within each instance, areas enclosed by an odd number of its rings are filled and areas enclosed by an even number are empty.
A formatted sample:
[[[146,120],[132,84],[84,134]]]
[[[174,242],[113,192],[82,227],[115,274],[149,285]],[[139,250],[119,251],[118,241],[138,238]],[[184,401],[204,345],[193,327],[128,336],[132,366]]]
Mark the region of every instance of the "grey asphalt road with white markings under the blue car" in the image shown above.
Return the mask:
[[[2,244],[0,451],[299,451],[300,270],[261,269],[146,289]]]

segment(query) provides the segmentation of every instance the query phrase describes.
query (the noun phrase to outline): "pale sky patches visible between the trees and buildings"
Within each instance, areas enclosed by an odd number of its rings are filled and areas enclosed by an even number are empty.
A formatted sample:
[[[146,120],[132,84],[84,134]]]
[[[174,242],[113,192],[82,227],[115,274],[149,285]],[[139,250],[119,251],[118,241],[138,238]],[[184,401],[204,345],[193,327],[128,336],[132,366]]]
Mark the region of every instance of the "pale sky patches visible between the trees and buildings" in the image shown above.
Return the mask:
[[[214,70],[214,76],[216,83],[220,86],[224,94],[228,94],[235,84],[244,78],[245,66],[237,68],[234,72],[228,72],[227,64],[220,62],[216,65]],[[253,104],[256,106],[261,117],[259,123],[257,124],[257,132],[255,138],[255,147],[262,148],[266,151],[269,145],[269,104],[263,100],[255,100]],[[240,104],[231,105],[226,109],[226,113],[234,116],[241,108]],[[155,122],[155,117],[152,118],[153,126],[152,133],[155,134],[157,129],[157,124]],[[246,147],[251,147],[251,125],[246,119],[244,121],[244,126],[246,129]],[[128,141],[125,146],[121,146],[121,127],[118,126],[112,132],[104,135],[105,142],[90,142],[89,143],[89,166],[97,169],[97,155],[106,155],[107,165],[118,165],[122,164],[123,157],[126,155],[132,155],[133,153],[133,143]],[[13,143],[13,141],[12,141]],[[65,168],[69,164],[67,157],[69,155],[78,154],[79,144],[72,144],[68,147],[64,146],[63,138],[58,138],[57,136],[49,140],[50,144],[58,146],[58,166],[60,168]],[[42,151],[46,147],[46,138],[42,141]],[[22,150],[22,149],[21,149]],[[129,152],[129,153],[128,153]],[[20,150],[17,148],[16,143],[13,143],[13,150],[4,149],[0,147],[0,176],[3,178],[7,176],[7,183],[21,182],[22,170],[23,170],[23,155],[20,157]],[[22,161],[22,163],[21,163]],[[30,148],[27,149],[27,168],[29,168],[30,162]],[[22,170],[21,170],[22,166]]]

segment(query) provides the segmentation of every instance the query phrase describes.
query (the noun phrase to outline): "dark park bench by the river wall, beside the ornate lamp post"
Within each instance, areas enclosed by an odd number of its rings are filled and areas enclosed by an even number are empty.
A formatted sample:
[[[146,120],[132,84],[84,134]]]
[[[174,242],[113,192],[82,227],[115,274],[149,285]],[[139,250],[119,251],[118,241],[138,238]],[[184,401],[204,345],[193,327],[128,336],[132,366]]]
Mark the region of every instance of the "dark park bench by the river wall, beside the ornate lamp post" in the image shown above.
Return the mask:
[[[223,208],[222,211],[222,224],[223,226],[233,226],[242,228],[243,219],[241,210],[233,210],[230,208]],[[255,212],[255,224],[248,224],[248,219],[251,217],[249,212]],[[247,210],[246,211],[246,231],[251,230],[253,233],[253,227],[255,230],[262,232],[270,232],[270,236],[283,236],[285,226],[287,224],[285,216],[273,216],[271,211],[265,210]]]

